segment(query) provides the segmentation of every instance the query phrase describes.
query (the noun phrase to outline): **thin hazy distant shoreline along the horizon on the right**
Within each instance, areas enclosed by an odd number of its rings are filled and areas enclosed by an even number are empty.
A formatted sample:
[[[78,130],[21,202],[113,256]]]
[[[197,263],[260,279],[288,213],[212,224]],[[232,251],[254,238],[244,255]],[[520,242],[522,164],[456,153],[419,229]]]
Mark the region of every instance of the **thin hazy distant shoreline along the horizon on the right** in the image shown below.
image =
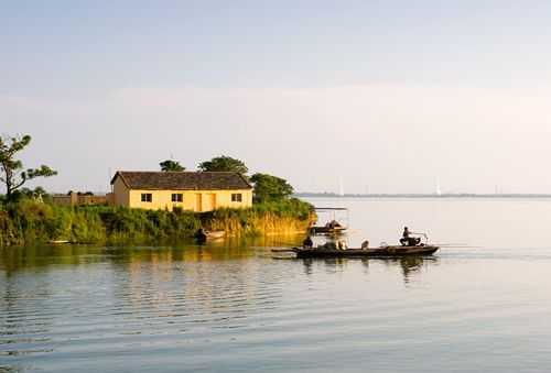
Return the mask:
[[[323,198],[551,198],[551,194],[345,194],[334,193],[296,193],[294,197],[323,197]]]

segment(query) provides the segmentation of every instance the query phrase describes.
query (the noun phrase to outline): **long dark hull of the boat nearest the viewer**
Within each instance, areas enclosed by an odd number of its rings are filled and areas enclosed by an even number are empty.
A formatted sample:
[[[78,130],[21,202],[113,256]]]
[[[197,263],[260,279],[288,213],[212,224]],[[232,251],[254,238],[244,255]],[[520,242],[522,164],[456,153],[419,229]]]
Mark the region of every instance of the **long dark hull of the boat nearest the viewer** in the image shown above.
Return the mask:
[[[325,248],[292,248],[272,250],[272,252],[293,252],[296,257],[401,257],[413,255],[432,255],[440,248],[433,245],[419,246],[381,246],[375,249],[325,249]]]

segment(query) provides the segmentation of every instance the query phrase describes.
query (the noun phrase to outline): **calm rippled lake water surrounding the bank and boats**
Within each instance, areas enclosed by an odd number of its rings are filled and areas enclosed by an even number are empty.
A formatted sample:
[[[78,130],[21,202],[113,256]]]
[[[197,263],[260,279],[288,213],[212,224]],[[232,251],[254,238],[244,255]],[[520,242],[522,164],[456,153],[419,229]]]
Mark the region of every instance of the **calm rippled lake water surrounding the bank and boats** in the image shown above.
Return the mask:
[[[278,260],[269,245],[0,252],[0,372],[544,372],[551,200],[314,199],[352,245],[404,224],[432,259]]]

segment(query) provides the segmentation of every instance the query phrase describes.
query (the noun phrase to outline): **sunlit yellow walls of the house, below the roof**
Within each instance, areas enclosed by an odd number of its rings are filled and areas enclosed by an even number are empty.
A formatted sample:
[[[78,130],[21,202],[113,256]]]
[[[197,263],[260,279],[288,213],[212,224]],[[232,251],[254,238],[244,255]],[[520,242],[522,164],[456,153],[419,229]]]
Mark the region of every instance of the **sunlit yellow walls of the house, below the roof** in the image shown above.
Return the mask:
[[[119,184],[120,183],[120,184]],[[117,186],[117,184],[119,184]],[[114,186],[115,205],[152,210],[169,210],[181,207],[196,212],[210,211],[216,208],[247,208],[252,206],[252,189],[239,190],[128,190],[117,178]],[[141,195],[151,194],[151,202],[142,202]],[[173,202],[172,194],[183,194],[182,202]],[[241,202],[231,201],[233,194],[241,194]],[[213,197],[214,196],[214,197]],[[201,200],[201,202],[199,202]]]

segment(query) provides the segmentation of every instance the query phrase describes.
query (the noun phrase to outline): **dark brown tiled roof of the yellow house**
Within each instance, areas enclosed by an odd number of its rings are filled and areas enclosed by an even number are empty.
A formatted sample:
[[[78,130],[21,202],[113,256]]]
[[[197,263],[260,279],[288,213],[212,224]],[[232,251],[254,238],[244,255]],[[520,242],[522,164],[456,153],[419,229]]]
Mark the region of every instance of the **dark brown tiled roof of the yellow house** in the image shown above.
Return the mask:
[[[238,173],[208,172],[134,172],[119,171],[117,177],[129,189],[212,190],[250,189],[251,185]]]

